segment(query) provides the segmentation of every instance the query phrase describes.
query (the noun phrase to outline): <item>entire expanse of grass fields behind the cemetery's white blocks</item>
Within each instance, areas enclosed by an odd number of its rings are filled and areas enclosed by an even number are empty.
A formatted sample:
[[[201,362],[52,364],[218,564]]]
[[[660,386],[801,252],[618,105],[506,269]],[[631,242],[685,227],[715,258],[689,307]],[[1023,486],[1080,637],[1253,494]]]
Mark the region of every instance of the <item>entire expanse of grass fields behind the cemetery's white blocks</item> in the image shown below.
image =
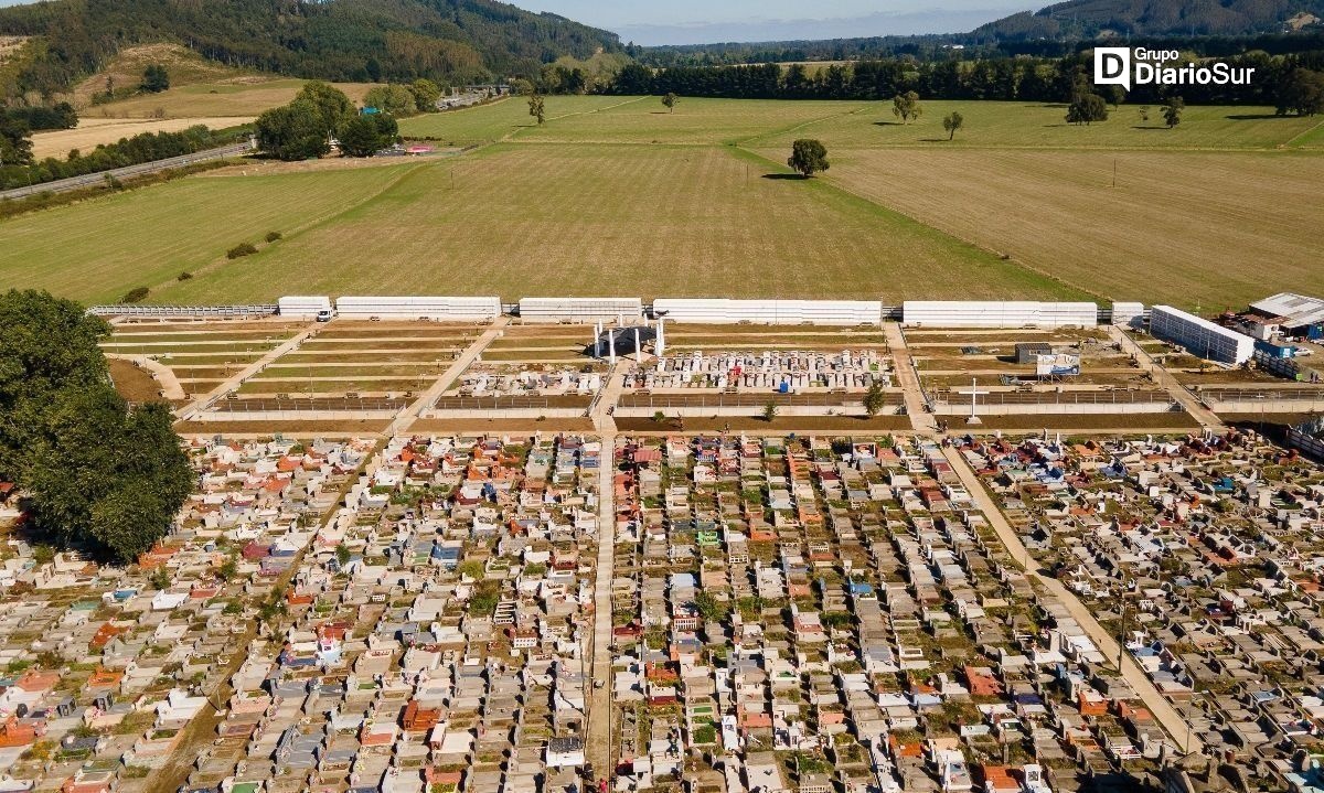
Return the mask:
[[[87,301],[144,285],[152,302],[195,303],[1099,297],[1221,308],[1324,291],[1324,119],[1192,107],[1166,130],[1127,105],[1090,127],[1054,106],[924,109],[902,126],[883,102],[682,98],[673,114],[657,97],[548,97],[538,126],[511,98],[402,123],[413,136],[499,142],[461,158],[236,168],[0,221],[0,279]],[[967,128],[948,142],[953,109]],[[806,136],[833,167],[786,179],[790,142]],[[266,230],[285,238],[225,259]],[[175,281],[181,270],[195,278]]]

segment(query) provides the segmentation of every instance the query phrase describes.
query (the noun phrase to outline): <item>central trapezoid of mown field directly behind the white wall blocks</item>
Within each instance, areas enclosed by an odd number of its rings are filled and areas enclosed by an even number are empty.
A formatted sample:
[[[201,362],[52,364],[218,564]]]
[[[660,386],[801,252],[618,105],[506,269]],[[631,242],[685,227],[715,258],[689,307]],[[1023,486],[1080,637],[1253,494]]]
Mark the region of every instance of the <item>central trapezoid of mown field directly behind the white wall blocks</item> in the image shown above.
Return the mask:
[[[519,146],[391,189],[159,299],[281,294],[859,297],[935,283],[1071,290],[821,181],[724,147]],[[1080,294],[1080,293],[1075,293]]]

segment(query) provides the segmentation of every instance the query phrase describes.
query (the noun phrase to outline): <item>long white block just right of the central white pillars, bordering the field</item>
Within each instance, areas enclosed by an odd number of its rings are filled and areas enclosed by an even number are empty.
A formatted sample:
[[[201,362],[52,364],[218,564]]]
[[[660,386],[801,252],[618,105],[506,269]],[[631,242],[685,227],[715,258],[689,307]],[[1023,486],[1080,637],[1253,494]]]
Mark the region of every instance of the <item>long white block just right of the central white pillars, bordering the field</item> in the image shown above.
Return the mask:
[[[879,324],[878,301],[728,301],[726,298],[659,298],[653,312],[669,322],[755,324]]]

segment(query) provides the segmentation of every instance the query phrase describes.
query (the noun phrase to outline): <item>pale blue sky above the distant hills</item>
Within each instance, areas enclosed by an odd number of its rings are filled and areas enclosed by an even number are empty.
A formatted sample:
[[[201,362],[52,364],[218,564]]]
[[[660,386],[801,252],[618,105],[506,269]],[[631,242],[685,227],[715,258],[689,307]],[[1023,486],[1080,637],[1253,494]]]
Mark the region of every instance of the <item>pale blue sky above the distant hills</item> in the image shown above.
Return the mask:
[[[965,33],[1042,3],[1021,0],[510,0],[643,45]]]

